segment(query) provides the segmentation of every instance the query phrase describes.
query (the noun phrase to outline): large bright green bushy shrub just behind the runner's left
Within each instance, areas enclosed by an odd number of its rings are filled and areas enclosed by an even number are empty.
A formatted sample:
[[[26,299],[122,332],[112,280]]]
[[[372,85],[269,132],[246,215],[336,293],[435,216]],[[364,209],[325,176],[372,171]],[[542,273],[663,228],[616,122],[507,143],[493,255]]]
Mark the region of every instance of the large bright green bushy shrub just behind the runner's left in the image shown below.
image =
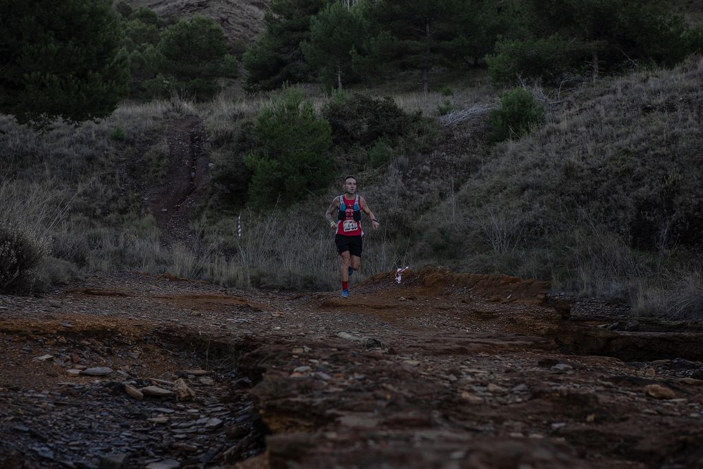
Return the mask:
[[[332,132],[318,119],[300,89],[288,89],[259,114],[254,126],[259,146],[244,158],[252,170],[253,205],[290,205],[301,191],[328,187],[333,177]],[[285,195],[284,198],[280,198]]]

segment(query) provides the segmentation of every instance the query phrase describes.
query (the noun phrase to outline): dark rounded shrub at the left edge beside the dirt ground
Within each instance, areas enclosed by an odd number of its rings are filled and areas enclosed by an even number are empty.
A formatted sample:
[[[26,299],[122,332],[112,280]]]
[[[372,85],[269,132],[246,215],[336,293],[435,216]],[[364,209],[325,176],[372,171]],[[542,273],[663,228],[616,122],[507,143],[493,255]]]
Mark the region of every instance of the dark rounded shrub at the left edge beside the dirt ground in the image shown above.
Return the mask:
[[[0,292],[31,291],[48,255],[49,245],[31,231],[0,226]]]

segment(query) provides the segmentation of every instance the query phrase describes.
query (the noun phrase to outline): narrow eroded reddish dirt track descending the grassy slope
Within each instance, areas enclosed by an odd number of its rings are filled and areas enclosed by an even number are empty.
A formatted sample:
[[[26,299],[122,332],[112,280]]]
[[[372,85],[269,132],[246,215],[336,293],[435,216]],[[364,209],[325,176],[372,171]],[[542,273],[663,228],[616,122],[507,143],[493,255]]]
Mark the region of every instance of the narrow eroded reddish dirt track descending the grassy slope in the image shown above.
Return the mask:
[[[148,206],[165,243],[179,242],[194,248],[198,236],[190,223],[209,176],[202,123],[195,116],[186,117],[169,130],[167,143],[167,182],[148,190]]]

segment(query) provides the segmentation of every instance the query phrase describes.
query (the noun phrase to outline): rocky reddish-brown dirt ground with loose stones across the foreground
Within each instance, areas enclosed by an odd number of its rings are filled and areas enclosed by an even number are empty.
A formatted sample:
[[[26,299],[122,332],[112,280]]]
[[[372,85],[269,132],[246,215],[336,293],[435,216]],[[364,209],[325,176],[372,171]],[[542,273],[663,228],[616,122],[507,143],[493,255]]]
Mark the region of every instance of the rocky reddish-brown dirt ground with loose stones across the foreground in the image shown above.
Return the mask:
[[[701,332],[618,330],[605,306],[576,321],[547,286],[427,269],[342,300],[102,274],[0,297],[0,466],[703,467],[701,346],[676,345]],[[122,384],[179,377],[195,399]]]

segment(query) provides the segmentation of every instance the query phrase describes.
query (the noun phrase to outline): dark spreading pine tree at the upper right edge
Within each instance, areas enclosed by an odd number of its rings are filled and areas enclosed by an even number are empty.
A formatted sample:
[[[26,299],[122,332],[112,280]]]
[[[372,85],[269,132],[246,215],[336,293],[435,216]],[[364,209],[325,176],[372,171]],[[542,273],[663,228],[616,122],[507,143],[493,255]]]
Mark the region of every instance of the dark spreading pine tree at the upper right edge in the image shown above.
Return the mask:
[[[506,39],[486,59],[494,64],[492,76],[510,70],[502,82],[514,83],[520,75],[555,84],[558,76],[585,75],[586,65],[597,79],[642,62],[673,65],[693,51],[683,16],[662,0],[528,0],[525,8],[527,34]],[[557,37],[561,45],[555,47]],[[550,66],[541,73],[534,67],[538,62]],[[556,62],[563,66],[560,73]]]

